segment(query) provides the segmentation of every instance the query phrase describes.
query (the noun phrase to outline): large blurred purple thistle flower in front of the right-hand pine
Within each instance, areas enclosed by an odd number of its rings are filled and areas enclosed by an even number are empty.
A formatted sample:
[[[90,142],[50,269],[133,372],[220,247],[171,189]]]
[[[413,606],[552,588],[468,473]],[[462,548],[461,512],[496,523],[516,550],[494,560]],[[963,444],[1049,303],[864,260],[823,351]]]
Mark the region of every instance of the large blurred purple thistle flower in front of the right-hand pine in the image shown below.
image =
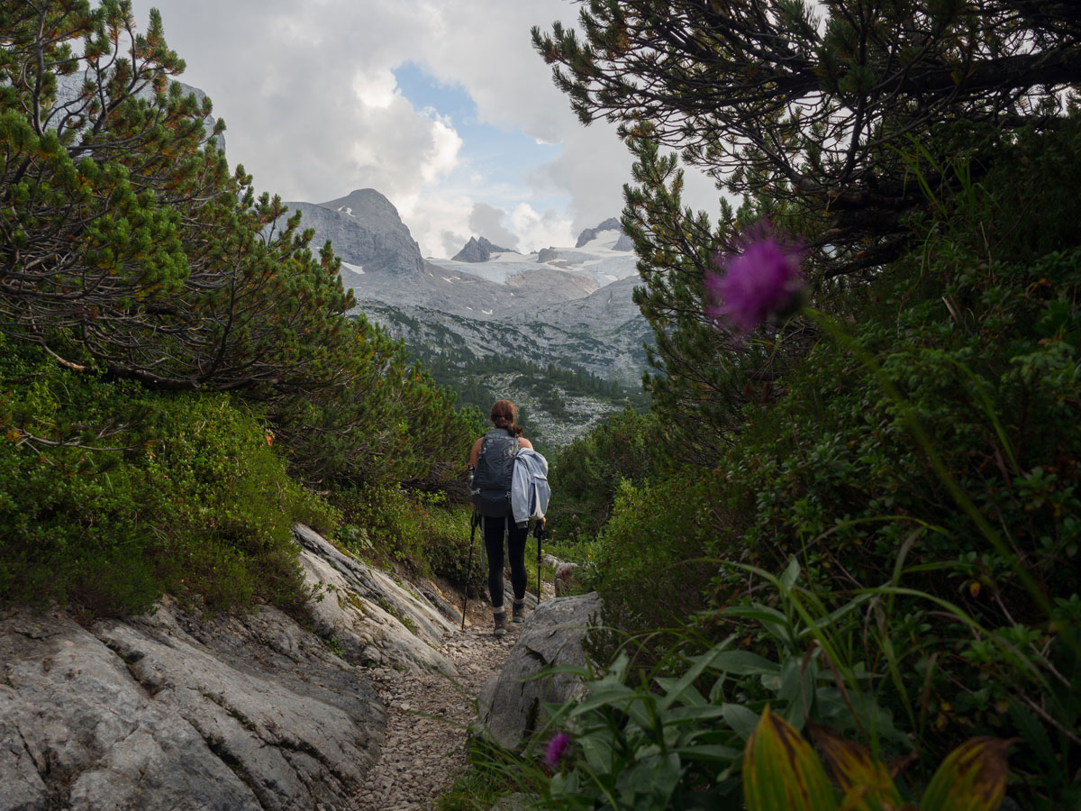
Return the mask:
[[[739,242],[742,250],[718,253],[713,260],[723,274],[706,274],[706,294],[712,302],[706,315],[746,334],[772,316],[790,314],[799,303],[803,250],[778,239],[766,221],[745,230]]]

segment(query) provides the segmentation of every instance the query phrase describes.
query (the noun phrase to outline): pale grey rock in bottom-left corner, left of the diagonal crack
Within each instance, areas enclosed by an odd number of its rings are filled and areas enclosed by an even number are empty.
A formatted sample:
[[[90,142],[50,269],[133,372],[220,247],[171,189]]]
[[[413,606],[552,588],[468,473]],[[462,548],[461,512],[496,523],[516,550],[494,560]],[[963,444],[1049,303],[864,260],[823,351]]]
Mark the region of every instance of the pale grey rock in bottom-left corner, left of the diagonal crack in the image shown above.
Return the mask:
[[[255,795],[175,708],[70,619],[0,630],[0,809],[256,811]]]

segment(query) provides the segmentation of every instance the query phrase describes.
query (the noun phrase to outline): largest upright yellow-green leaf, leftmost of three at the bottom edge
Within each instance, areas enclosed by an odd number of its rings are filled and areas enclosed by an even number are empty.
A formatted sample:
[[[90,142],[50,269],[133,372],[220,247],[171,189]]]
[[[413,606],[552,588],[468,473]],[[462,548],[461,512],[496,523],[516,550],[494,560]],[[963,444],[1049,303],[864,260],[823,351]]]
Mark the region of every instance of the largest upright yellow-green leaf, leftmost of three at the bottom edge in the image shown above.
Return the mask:
[[[747,811],[838,811],[818,756],[769,707],[744,749],[743,781]]]

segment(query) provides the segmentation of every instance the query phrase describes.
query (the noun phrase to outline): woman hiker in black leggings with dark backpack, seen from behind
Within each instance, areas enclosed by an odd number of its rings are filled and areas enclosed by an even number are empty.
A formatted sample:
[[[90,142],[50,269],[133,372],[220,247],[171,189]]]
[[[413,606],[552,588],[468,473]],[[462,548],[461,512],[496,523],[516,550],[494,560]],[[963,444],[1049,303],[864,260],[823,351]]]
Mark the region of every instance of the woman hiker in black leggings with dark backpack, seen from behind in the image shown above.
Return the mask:
[[[503,604],[503,537],[507,533],[510,585],[515,589],[511,620],[525,622],[525,541],[529,526],[519,527],[511,517],[510,482],[515,456],[520,449],[533,450],[518,425],[518,409],[510,400],[497,400],[489,415],[495,426],[473,442],[469,451],[472,471],[469,492],[481,516],[484,550],[488,553],[488,591],[492,598],[495,636],[507,633],[507,609]],[[543,519],[542,519],[543,521]]]

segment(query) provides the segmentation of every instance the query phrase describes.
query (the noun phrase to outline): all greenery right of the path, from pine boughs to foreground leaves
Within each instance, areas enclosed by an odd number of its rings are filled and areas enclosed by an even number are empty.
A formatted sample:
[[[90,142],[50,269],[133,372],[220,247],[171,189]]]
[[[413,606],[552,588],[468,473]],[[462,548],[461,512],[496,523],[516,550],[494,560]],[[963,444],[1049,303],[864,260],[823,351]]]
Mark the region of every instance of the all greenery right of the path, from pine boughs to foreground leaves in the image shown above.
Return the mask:
[[[589,697],[498,768],[559,809],[1076,808],[1076,13],[618,0],[580,23],[534,42],[637,158],[653,404],[557,458],[586,509],[552,529],[587,539],[611,627]],[[665,147],[740,205],[684,210]],[[765,217],[802,239],[808,301],[748,334],[706,281]],[[858,747],[858,780],[810,739]]]

